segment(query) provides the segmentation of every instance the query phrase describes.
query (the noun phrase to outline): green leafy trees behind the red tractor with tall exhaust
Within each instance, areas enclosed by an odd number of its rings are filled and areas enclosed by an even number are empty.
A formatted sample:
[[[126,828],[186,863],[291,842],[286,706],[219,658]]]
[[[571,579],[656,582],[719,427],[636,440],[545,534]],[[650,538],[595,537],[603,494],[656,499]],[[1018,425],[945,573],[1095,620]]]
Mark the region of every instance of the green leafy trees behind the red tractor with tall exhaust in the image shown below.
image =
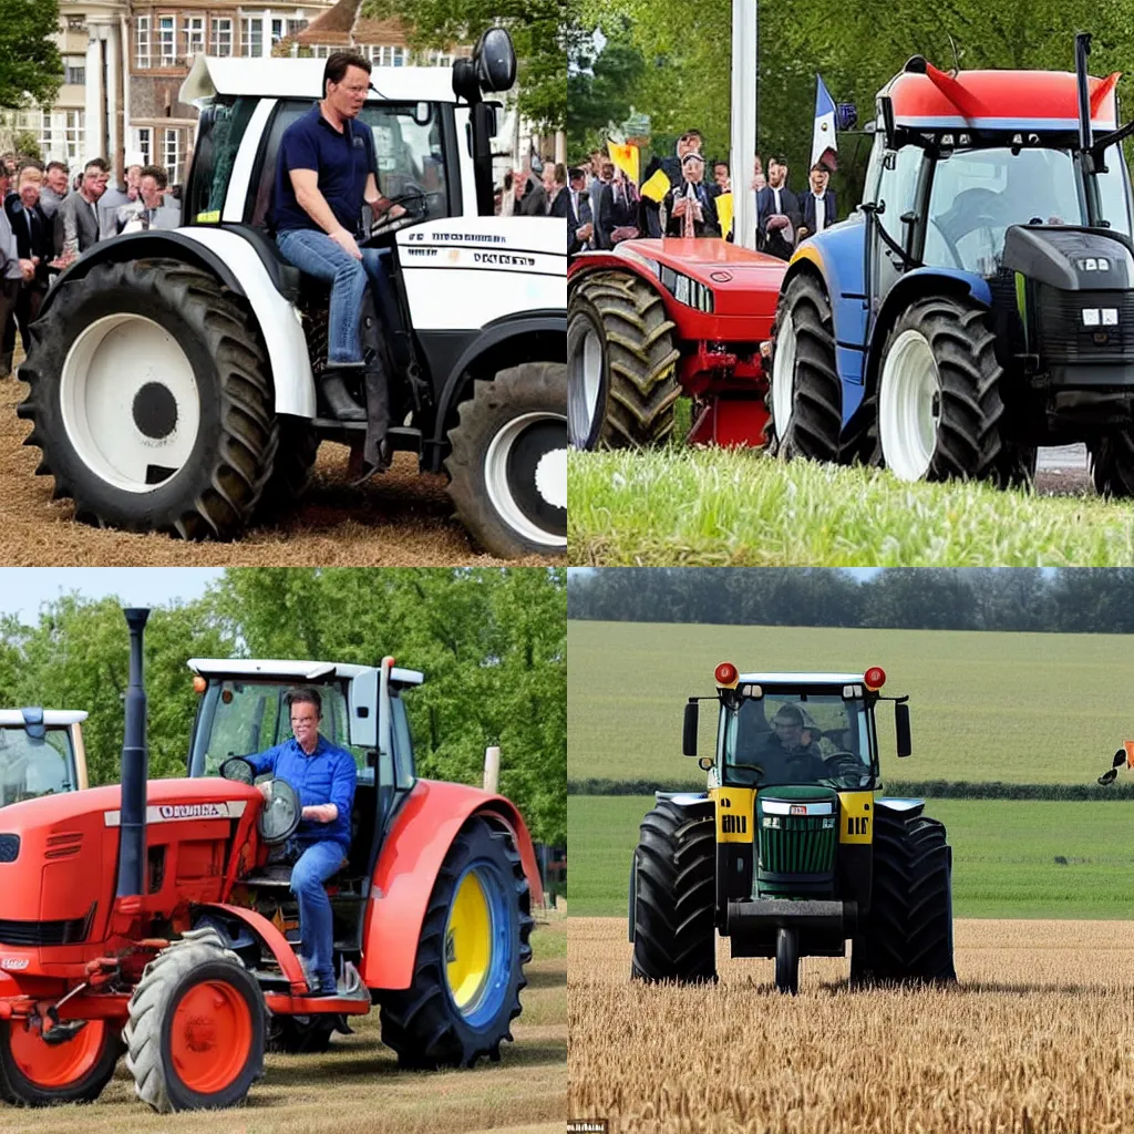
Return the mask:
[[[418,775],[500,790],[534,838],[566,840],[567,625],[562,568],[236,568],[146,626],[151,776],[184,776],[197,697],[189,658],[301,658],[425,674],[406,694]],[[129,595],[122,596],[129,603]],[[85,709],[91,782],[118,781],[128,635],[116,599],[70,594],[34,626],[0,618],[0,705]]]

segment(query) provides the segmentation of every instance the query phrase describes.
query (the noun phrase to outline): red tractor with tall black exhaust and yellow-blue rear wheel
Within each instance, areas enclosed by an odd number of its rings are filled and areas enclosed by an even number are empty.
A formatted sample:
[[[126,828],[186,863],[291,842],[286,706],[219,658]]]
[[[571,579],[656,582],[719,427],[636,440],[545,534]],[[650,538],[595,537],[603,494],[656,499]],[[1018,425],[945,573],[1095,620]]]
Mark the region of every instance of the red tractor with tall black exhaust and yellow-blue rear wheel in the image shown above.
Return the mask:
[[[147,613],[126,611],[121,785],[0,816],[0,1099],[91,1101],[125,1050],[155,1110],[234,1106],[263,1075],[270,1040],[323,1050],[375,1004],[404,1066],[498,1059],[521,1012],[540,878],[508,799],[416,778],[400,694],[422,675],[392,658],[193,662],[203,695],[191,778],[147,785]],[[324,735],[364,765],[349,858],[327,883],[340,975],[330,998],[306,995],[289,866],[277,861],[298,801],[282,780],[265,801],[242,759],[285,727],[281,672],[303,667],[296,676],[331,694]]]

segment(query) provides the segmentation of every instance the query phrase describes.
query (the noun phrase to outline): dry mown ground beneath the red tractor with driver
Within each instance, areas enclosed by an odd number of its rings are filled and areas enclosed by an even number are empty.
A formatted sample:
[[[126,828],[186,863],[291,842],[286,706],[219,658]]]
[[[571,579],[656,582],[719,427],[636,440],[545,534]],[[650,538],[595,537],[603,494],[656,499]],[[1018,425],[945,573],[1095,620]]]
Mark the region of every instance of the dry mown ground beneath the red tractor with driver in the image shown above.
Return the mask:
[[[353,1017],[322,1056],[270,1055],[247,1103],[203,1115],[156,1115],[134,1094],[120,1060],[90,1106],[19,1110],[0,1105],[0,1131],[34,1134],[561,1134],[567,1115],[565,921],[536,928],[524,1010],[498,1064],[401,1072],[382,1046],[378,1010]]]

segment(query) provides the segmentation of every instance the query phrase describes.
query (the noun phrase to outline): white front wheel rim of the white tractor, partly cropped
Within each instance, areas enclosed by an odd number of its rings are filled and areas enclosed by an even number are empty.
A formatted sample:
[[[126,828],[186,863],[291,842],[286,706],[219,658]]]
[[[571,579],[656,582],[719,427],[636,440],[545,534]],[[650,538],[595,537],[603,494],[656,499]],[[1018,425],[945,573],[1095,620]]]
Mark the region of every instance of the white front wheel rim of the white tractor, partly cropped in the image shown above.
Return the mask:
[[[540,424],[560,426],[567,432],[562,414],[530,413],[514,417],[501,429],[484,454],[484,486],[500,518],[522,539],[543,548],[566,549],[566,532],[548,531],[531,515],[531,505],[544,509],[567,509],[567,446],[556,445],[543,450],[532,469],[532,483],[515,483],[510,463],[517,441]],[[524,505],[528,508],[525,509]]]

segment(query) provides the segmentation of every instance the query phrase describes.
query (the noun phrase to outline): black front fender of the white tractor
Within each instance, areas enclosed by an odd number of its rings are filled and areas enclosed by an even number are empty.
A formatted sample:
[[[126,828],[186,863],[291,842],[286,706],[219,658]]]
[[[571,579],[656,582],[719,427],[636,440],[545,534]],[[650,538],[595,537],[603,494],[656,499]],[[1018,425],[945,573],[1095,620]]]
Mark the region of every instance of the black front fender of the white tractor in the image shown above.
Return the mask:
[[[429,349],[431,337],[420,335],[418,338]],[[517,340],[527,339],[526,344]],[[515,345],[518,349],[509,349]],[[457,408],[464,390],[471,386],[468,372],[477,373],[479,378],[489,378],[498,370],[515,366],[522,362],[559,362],[567,356],[567,313],[566,311],[525,311],[514,315],[505,315],[485,323],[480,330],[473,331],[469,338],[460,344],[460,354],[456,362],[441,357],[438,350],[430,365],[440,378],[447,373],[441,395],[438,399],[437,425],[433,440],[438,445],[445,442],[449,414]],[[493,356],[499,356],[493,358]],[[486,363],[488,365],[477,365]]]

